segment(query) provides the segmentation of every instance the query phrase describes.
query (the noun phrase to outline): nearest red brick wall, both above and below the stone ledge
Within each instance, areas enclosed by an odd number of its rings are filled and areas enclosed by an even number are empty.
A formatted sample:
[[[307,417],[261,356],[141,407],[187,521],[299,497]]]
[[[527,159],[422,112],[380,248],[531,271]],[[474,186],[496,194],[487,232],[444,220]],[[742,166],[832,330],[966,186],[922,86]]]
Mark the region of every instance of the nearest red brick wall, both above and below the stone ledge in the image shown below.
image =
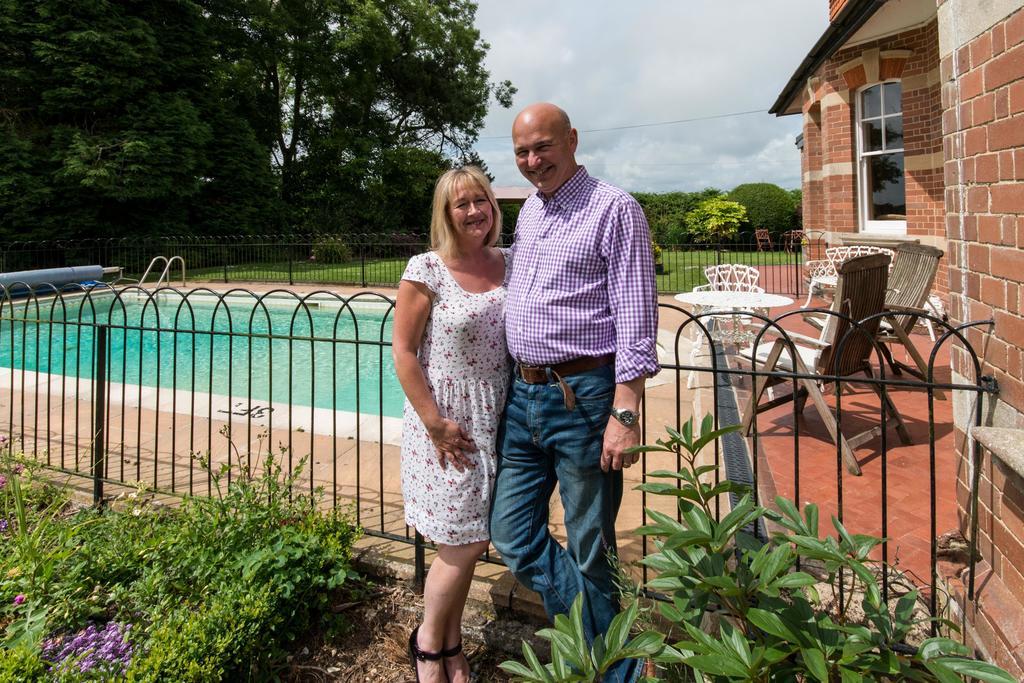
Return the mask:
[[[942,4],[941,2],[939,3]],[[952,323],[992,318],[968,341],[999,394],[996,426],[1024,428],[1024,9],[943,55],[942,130],[949,314]],[[974,379],[963,349],[953,370]],[[989,412],[986,411],[988,415]],[[970,420],[970,418],[967,418]],[[958,420],[963,433],[966,424]],[[958,440],[966,443],[966,439]],[[962,449],[958,447],[962,451]],[[970,456],[961,453],[957,503],[970,525]],[[996,664],[1024,680],[1024,480],[982,455],[975,603],[958,599],[969,635]],[[954,596],[956,591],[954,591]]]

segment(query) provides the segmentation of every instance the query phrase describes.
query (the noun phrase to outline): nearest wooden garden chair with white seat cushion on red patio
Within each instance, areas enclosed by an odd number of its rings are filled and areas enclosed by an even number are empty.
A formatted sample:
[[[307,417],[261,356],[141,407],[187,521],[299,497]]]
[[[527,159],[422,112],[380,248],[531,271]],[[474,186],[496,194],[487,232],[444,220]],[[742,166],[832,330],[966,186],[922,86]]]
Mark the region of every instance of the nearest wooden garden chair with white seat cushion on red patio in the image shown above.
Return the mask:
[[[803,412],[807,399],[810,398],[828,429],[833,441],[839,442],[847,469],[852,474],[860,474],[860,465],[853,455],[853,450],[881,434],[882,427],[876,426],[852,436],[841,434],[836,416],[825,401],[821,388],[831,382],[836,382],[837,385],[841,383],[834,378],[848,381],[847,378],[857,374],[873,377],[870,358],[881,319],[878,314],[885,306],[889,257],[885,254],[870,254],[849,259],[839,265],[837,275],[836,297],[831,307],[835,314],[827,316],[828,319],[819,338],[788,333],[785,338],[759,344],[756,349],[751,347],[740,351],[757,371],[817,376],[817,379],[797,379],[795,392],[764,403],[761,402],[761,396],[769,384],[793,380],[767,376],[755,377],[742,427],[743,433],[749,434],[758,413],[781,405],[788,400],[797,401],[797,412]],[[863,321],[863,323],[851,321]],[[870,383],[869,386],[879,395],[885,414],[894,420],[900,440],[903,443],[910,443],[910,434],[895,403],[888,394],[883,393],[882,387],[874,383]],[[836,390],[839,388],[837,386]]]

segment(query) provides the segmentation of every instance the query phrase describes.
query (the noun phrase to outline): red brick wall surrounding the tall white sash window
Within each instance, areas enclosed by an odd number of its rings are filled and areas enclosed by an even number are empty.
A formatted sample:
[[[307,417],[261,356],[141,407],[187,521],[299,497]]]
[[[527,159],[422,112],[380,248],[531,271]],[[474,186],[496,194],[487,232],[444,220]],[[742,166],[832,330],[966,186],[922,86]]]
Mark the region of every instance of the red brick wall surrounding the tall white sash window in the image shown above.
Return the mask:
[[[944,183],[939,154],[942,151],[942,100],[937,78],[937,32],[938,24],[931,22],[881,40],[847,47],[819,70],[814,96],[805,94],[804,100],[804,164],[806,170],[812,160],[820,158],[820,168],[825,175],[820,187],[805,180],[805,229],[858,232],[856,114],[853,102],[857,96],[856,88],[865,84],[866,70],[862,66],[851,68],[850,65],[865,51],[878,50],[881,55],[878,57],[879,79],[901,73],[904,84],[904,158],[910,166],[905,173],[907,236],[937,244],[945,250]],[[898,59],[885,56],[893,50],[909,50],[910,53]],[[855,89],[851,90],[851,86]],[[816,118],[812,115],[818,109],[820,115]],[[842,172],[844,169],[848,172]],[[815,212],[818,202],[820,213]],[[936,280],[938,289],[944,291],[947,281],[946,260],[943,259]]]

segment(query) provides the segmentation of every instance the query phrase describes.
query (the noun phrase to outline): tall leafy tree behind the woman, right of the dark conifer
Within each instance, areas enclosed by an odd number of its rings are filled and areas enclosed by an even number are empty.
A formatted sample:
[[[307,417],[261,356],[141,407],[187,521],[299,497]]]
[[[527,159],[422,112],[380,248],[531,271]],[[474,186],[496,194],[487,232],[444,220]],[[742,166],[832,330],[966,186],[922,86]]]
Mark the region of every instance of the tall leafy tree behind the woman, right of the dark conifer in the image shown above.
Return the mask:
[[[488,82],[487,45],[467,0],[223,8],[222,26],[254,37],[248,58],[258,99],[273,108],[272,158],[300,229],[381,231],[394,224],[396,203],[429,205],[424,177],[469,153],[489,97],[511,105],[511,84]],[[413,222],[400,227],[424,226]]]

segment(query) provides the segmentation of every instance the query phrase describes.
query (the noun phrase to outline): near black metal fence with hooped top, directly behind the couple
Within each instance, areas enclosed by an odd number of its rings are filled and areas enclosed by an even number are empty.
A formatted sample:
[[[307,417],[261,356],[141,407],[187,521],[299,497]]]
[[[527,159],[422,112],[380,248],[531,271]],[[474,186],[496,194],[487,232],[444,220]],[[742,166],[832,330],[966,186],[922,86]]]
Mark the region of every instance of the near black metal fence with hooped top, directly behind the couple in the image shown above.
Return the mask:
[[[237,476],[272,450],[286,473],[302,463],[299,485],[323,488],[331,506],[350,507],[368,533],[416,544],[422,553],[404,525],[398,481],[402,399],[390,364],[392,313],[393,301],[372,292],[342,297],[95,286],[12,296],[0,289],[0,433],[11,437],[12,451],[91,481],[97,501],[104,486],[138,482],[208,495],[211,468]],[[879,560],[905,557],[899,539],[919,539],[927,554],[919,549],[916,563],[907,559],[901,571],[919,586],[935,587],[935,539],[956,525],[949,506],[958,462],[950,447],[952,411],[939,394],[973,402],[980,424],[981,396],[993,387],[981,377],[964,330],[987,323],[953,329],[934,319],[944,334],[925,353],[924,378],[887,374],[878,344],[874,373],[853,378],[820,369],[766,373],[740,362],[741,347],[773,335],[786,339],[791,353],[799,343],[785,332],[794,313],[742,317],[759,324],[756,334],[726,333],[720,317],[662,306],[662,373],[648,382],[643,438],[652,441],[666,425],[678,429],[691,415],[713,414],[721,425],[740,422],[758,377],[791,392],[808,386],[805,381],[842,387],[824,394],[840,433],[877,430],[856,447],[861,476],[847,471],[840,445],[812,411],[802,414],[800,401],[790,411],[755,414],[749,438],[733,434],[716,442],[708,462],[719,466],[716,476],[749,482],[762,504],[773,505],[775,494],[801,505],[819,503],[854,532],[893,539]],[[854,326],[851,334],[859,331]],[[941,360],[951,346],[973,369],[972,382],[949,380]],[[887,397],[900,407],[913,445],[893,444],[893,417],[882,408]],[[979,457],[969,452],[975,497]],[[645,455],[629,481],[678,469],[680,462]],[[630,490],[624,500],[624,559],[648,550],[631,530],[645,522],[647,508],[666,505],[655,499]],[[671,505],[663,511],[678,513]],[[976,535],[970,536],[973,546]],[[888,591],[885,570],[884,580]],[[935,613],[936,591],[930,596]]]

